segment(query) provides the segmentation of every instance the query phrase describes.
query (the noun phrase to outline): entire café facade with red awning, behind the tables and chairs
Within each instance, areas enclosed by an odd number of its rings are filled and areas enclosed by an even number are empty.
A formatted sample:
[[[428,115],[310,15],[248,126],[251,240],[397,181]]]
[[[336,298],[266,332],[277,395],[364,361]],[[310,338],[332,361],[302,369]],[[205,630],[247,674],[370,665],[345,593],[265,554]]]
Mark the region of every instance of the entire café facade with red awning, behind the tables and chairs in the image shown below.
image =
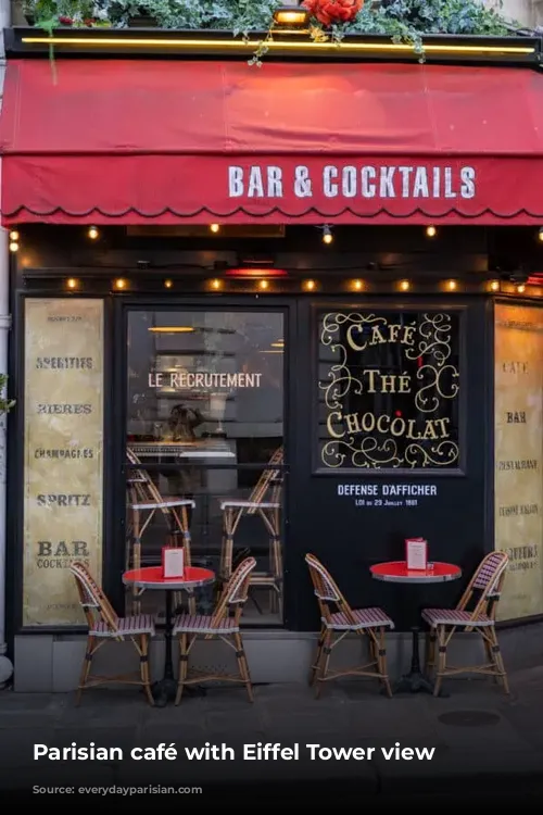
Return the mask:
[[[421,64],[286,35],[258,68],[230,35],[5,35],[15,688],[77,684],[75,560],[160,612],[122,580],[175,532],[159,512],[135,544],[139,478],[193,502],[193,563],[256,556],[255,681],[306,675],[306,552],[388,611],[399,661],[414,620],[369,568],[407,538],[463,569],[420,604],[506,550],[501,626],[540,620],[541,40],[435,37]],[[279,509],[231,530],[239,501]]]

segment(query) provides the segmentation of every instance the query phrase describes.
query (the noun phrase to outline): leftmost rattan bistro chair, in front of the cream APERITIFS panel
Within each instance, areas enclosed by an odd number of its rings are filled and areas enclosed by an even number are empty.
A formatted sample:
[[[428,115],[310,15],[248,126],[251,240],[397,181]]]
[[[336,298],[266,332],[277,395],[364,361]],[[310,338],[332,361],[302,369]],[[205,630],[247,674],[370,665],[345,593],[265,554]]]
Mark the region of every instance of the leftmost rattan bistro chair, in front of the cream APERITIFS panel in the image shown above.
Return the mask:
[[[118,617],[104,592],[97,584],[85,564],[75,562],[70,570],[75,577],[79,601],[87,618],[89,634],[87,650],[83,663],[76,704],[81,701],[81,693],[86,688],[94,688],[108,682],[123,685],[140,685],[146,691],[149,704],[154,704],[151,693],[149,670],[149,640],[154,637],[154,624],[149,614],[134,617]],[[125,642],[130,640],[138,652],[140,661],[140,679],[129,676],[98,676],[91,675],[92,659],[105,642]]]

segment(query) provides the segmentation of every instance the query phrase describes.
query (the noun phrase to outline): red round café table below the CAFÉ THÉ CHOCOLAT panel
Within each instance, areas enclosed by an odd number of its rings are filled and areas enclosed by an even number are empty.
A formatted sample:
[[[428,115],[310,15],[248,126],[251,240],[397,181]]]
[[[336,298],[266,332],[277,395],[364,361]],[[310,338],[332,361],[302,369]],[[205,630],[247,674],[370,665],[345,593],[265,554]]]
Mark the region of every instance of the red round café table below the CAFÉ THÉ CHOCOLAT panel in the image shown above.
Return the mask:
[[[462,577],[462,569],[454,563],[433,562],[428,563],[426,569],[408,569],[406,561],[389,561],[388,563],[376,563],[369,567],[371,577],[376,580],[386,582],[399,582],[407,585],[424,585],[435,582],[449,582]],[[418,638],[420,628],[412,627],[413,650],[411,668],[408,674],[404,674],[394,689],[395,693],[408,691],[418,693],[426,691],[433,693],[433,682],[424,675],[420,668],[420,655]],[[441,695],[441,694],[440,694]]]

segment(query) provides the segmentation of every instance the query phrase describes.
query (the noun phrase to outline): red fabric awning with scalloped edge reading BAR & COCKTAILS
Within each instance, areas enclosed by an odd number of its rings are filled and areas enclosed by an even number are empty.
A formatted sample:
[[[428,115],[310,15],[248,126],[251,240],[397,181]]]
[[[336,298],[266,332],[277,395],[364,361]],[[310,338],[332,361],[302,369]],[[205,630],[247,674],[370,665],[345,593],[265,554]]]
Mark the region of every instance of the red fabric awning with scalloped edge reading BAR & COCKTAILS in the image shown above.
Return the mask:
[[[4,225],[543,223],[528,68],[8,65]]]

